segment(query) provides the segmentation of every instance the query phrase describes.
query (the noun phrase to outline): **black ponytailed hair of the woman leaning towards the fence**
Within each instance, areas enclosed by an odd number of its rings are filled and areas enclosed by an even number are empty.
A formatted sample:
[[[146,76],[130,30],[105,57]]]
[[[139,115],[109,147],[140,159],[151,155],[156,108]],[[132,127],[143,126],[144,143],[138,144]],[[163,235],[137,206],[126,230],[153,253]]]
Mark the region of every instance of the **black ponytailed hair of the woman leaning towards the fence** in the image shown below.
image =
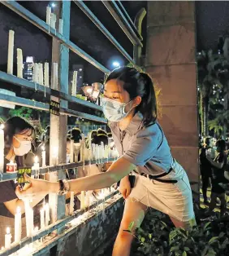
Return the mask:
[[[130,95],[130,99],[136,96],[141,97],[140,105],[136,107],[136,112],[143,115],[143,123],[149,126],[157,119],[157,99],[153,87],[153,81],[147,73],[139,72],[136,68],[121,67],[114,69],[105,83],[111,79],[123,82],[123,90]]]

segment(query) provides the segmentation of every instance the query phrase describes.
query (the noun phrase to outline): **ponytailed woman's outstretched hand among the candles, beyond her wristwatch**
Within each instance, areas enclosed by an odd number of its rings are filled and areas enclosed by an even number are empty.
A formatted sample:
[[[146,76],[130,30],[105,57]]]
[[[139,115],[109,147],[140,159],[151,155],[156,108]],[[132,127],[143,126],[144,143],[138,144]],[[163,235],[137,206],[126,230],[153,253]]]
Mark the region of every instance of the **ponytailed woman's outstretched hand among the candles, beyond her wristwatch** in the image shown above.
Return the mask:
[[[19,186],[16,188],[15,192],[19,199],[31,198],[40,194],[48,194],[49,192],[58,192],[58,183],[51,183],[44,179],[32,179],[27,174],[24,174],[24,179],[29,185],[24,190],[21,190]]]

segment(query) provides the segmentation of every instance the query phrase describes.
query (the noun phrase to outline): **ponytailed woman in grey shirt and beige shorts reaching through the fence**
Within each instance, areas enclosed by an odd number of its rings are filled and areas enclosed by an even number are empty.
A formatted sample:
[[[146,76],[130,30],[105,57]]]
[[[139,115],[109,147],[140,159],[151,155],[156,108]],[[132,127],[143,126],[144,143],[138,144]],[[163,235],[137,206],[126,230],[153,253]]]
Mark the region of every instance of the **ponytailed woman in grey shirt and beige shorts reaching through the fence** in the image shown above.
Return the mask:
[[[195,224],[192,191],[184,168],[171,156],[166,137],[157,121],[153,82],[136,68],[114,69],[106,78],[102,108],[110,122],[119,159],[102,174],[50,183],[29,179],[31,188],[19,196],[45,192],[63,193],[108,188],[119,180],[119,191],[126,200],[114,255],[129,255],[133,236],[130,223],[139,227],[150,206],[168,214],[175,227]],[[129,174],[135,172],[134,179]],[[131,183],[132,181],[132,187]]]

